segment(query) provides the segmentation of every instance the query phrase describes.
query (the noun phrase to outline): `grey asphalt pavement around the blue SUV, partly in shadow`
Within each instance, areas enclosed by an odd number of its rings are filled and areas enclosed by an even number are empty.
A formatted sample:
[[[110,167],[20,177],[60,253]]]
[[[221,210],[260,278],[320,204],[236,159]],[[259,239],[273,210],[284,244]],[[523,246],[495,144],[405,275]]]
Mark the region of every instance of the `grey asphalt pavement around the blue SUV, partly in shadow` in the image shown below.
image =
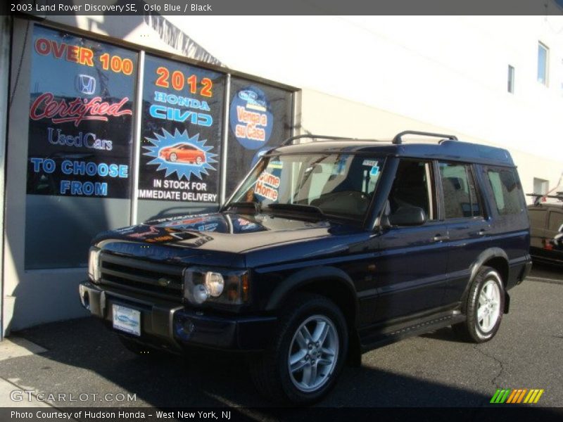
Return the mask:
[[[563,269],[536,265],[511,290],[510,314],[495,339],[462,343],[444,328],[381,347],[348,367],[320,407],[483,407],[498,388],[544,389],[537,407],[563,407]],[[267,407],[243,359],[208,354],[191,362],[146,359],[125,350],[92,318],[17,333],[46,349],[0,361],[14,388],[86,393],[57,407]],[[130,401],[103,401],[127,392]]]

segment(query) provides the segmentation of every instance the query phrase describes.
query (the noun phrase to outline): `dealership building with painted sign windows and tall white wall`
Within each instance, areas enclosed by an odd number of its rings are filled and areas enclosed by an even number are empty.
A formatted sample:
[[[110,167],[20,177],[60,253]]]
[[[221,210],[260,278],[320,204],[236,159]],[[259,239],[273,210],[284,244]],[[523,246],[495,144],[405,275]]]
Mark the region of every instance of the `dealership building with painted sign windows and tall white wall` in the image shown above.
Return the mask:
[[[0,16],[0,338],[87,315],[91,238],[217,210],[291,135],[453,134],[507,148],[526,193],[557,189],[563,12],[548,4],[534,16]]]

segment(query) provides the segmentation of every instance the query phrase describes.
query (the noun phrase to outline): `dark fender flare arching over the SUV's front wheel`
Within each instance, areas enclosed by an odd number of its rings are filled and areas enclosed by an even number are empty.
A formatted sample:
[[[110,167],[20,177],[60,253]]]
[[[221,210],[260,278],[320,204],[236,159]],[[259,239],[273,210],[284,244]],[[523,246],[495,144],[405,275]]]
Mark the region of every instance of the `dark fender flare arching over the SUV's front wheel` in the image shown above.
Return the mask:
[[[354,299],[355,309],[353,310],[355,315],[358,309],[358,294],[356,293],[354,283],[346,272],[336,267],[310,267],[291,274],[274,289],[272,295],[270,295],[270,300],[267,302],[266,310],[278,309],[281,303],[295,290],[319,280],[336,281],[341,286],[346,286],[346,289]]]

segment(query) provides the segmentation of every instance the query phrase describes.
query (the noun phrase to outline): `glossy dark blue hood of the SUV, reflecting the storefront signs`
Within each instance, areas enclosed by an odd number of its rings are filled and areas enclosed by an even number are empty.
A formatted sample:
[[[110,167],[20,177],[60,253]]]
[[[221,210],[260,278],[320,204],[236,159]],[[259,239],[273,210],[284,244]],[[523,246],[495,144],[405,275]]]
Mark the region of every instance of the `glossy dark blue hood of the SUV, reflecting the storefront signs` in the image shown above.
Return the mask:
[[[275,215],[214,214],[159,219],[106,231],[94,245],[120,255],[152,260],[242,267],[241,254],[274,245],[353,234],[357,226],[303,221]]]

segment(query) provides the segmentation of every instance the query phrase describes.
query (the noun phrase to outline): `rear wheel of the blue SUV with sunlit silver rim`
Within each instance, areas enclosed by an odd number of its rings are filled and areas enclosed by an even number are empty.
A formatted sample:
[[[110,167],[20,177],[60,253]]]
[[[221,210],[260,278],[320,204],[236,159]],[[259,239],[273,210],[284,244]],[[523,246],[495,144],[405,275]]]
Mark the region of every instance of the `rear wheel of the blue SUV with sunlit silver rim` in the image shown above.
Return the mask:
[[[473,343],[491,340],[500,327],[504,309],[505,288],[500,274],[491,267],[482,267],[467,295],[467,320],[453,325],[453,331]]]

